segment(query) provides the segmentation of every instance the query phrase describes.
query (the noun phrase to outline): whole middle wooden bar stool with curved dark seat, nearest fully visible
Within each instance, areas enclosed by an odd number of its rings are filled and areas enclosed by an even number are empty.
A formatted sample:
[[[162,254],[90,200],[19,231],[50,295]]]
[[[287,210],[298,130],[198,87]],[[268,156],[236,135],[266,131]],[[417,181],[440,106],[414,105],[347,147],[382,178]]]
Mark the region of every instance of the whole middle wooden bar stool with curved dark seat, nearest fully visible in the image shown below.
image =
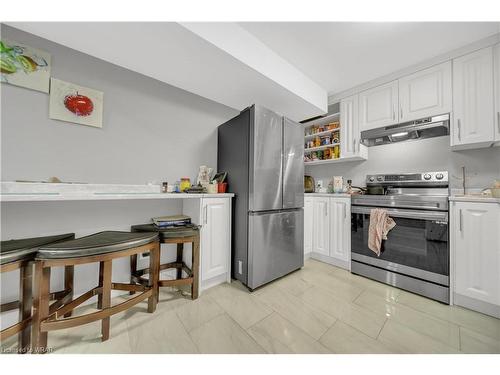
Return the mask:
[[[149,252],[151,281],[146,285],[124,284],[112,281],[113,259],[137,256]],[[75,266],[99,262],[99,283],[95,288],[71,301],[56,301],[49,305],[50,270],[52,267]],[[32,341],[34,353],[47,350],[47,333],[52,330],[76,327],[82,324],[102,321],[102,341],[109,338],[110,316],[127,310],[144,299],[148,299],[148,312],[156,309],[158,301],[158,280],[160,246],[157,233],[100,232],[72,241],[65,241],[40,247],[35,261],[35,298],[33,309]],[[137,296],[111,306],[111,290],[141,292]],[[98,296],[100,311],[64,318],[80,304]],[[61,318],[63,317],[63,318]]]

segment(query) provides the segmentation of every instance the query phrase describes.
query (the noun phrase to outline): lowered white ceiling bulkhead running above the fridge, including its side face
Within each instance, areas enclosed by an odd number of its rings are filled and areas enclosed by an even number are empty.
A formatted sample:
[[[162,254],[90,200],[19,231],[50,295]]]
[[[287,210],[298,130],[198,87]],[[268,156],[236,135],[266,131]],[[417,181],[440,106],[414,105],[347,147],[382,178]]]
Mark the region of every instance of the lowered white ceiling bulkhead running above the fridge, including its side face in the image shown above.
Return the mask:
[[[323,88],[236,23],[9,25],[237,110],[257,103],[295,121],[327,111]]]

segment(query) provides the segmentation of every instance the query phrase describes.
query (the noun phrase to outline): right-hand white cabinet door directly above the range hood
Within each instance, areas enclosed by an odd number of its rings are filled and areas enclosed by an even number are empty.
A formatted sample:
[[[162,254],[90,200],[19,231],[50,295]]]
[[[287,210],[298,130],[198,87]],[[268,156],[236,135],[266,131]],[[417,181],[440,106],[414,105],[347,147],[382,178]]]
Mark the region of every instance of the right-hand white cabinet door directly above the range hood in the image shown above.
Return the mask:
[[[451,112],[451,61],[399,80],[399,122]]]

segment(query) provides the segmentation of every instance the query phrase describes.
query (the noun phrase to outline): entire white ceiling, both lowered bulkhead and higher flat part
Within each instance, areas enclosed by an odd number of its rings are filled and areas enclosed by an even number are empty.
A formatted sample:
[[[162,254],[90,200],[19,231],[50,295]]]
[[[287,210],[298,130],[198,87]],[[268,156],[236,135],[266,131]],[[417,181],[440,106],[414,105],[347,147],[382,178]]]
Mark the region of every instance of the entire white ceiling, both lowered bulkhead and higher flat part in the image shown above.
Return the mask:
[[[500,32],[500,23],[16,22],[10,25],[235,109],[300,121],[336,94]],[[154,56],[152,59],[150,56]]]

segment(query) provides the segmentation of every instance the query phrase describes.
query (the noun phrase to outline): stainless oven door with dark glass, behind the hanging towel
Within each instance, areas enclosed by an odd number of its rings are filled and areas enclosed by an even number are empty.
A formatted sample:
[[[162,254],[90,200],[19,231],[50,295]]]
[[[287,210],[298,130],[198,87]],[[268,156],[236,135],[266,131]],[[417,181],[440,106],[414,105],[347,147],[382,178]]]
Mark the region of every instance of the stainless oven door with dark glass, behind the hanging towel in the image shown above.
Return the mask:
[[[448,212],[387,209],[396,226],[380,256],[368,248],[373,207],[351,208],[351,259],[388,271],[449,285]]]

